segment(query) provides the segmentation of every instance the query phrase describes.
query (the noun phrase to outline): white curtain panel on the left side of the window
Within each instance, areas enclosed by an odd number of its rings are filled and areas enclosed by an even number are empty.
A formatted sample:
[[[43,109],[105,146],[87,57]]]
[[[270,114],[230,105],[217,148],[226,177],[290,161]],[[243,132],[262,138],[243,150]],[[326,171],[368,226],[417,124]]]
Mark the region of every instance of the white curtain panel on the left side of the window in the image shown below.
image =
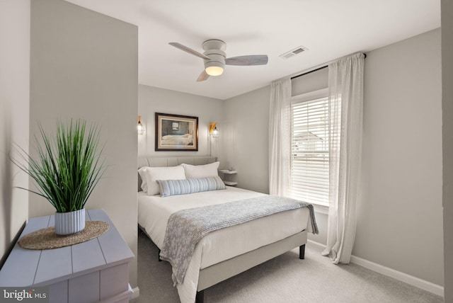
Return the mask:
[[[270,86],[269,193],[289,196],[291,165],[291,79]]]

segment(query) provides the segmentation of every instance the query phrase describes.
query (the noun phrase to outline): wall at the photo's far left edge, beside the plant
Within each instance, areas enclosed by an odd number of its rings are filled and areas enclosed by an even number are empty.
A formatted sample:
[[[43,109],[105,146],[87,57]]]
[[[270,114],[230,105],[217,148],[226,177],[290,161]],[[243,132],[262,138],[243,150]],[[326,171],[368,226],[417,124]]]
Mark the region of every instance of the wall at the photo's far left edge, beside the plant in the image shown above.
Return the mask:
[[[28,219],[28,178],[8,158],[14,144],[28,151],[30,0],[0,1],[0,266]]]

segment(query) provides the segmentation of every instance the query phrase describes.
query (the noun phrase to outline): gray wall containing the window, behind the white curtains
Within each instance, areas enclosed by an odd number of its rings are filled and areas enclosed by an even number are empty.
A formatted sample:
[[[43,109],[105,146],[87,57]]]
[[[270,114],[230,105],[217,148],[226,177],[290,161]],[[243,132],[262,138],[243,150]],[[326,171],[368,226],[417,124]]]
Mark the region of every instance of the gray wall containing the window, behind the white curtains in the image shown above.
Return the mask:
[[[364,190],[352,253],[442,286],[440,71],[439,29],[367,52]],[[322,88],[326,74],[317,76],[293,81],[293,95]],[[269,92],[266,86],[231,98],[224,109],[224,120],[235,125],[224,153],[238,158],[239,186],[265,193]],[[243,131],[253,126],[253,135]],[[321,234],[309,238],[326,244],[327,215],[316,217]]]

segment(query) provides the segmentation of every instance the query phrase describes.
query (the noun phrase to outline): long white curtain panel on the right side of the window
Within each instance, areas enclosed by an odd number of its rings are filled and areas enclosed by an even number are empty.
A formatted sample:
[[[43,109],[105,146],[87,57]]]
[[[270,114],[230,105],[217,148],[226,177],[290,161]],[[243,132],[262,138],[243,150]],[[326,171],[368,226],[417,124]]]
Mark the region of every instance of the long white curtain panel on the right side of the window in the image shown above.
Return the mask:
[[[355,240],[355,205],[362,161],[363,66],[359,53],[328,65],[329,211],[327,246],[332,263],[349,263]]]

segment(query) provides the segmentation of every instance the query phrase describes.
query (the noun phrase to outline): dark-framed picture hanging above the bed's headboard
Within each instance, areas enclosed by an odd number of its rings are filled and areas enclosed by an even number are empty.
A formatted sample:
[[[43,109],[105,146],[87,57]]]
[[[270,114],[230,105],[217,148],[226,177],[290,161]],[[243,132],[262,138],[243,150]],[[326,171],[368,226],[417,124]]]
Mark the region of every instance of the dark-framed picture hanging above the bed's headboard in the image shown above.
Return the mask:
[[[198,151],[198,117],[156,113],[156,151]]]

